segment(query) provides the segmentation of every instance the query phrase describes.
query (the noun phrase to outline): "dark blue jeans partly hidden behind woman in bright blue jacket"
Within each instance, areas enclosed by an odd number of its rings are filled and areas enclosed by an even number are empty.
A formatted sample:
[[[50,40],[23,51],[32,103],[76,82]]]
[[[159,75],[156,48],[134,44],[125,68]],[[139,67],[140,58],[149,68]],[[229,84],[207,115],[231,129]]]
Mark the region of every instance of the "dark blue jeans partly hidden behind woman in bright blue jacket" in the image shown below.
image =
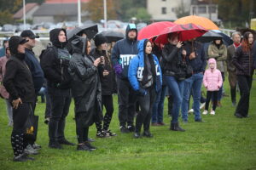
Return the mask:
[[[152,112],[152,123],[163,122],[163,111],[164,111],[164,102],[166,98],[166,88],[167,86],[162,86],[160,91],[156,94],[156,99],[154,101],[153,112]]]

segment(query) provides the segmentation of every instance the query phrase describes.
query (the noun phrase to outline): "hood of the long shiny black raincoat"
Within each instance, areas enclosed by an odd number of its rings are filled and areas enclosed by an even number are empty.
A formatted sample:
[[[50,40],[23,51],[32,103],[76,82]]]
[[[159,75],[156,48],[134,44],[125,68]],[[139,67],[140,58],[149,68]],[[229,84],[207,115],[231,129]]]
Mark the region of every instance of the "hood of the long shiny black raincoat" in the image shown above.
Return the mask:
[[[82,54],[84,56],[87,43],[88,43],[88,38],[75,36],[71,41],[71,44],[73,46],[73,52]]]

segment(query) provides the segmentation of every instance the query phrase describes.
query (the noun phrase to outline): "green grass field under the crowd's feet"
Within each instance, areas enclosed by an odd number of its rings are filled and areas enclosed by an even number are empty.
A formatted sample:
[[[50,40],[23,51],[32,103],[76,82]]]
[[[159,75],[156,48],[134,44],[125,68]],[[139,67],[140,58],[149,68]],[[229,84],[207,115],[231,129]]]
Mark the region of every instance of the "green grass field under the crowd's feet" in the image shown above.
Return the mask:
[[[228,81],[225,92],[230,94]],[[238,99],[239,96],[237,96]],[[168,128],[170,118],[166,105],[164,127],[151,127],[153,139],[133,139],[132,134],[121,134],[117,116],[117,97],[114,97],[114,114],[111,129],[117,137],[96,139],[93,144],[98,150],[77,151],[75,146],[64,146],[64,150],[48,148],[48,127],[44,124],[44,104],[38,103],[36,114],[39,118],[38,144],[43,146],[36,161],[13,162],[10,144],[12,128],[8,127],[5,103],[0,99],[0,169],[256,169],[256,83],[250,99],[250,118],[237,119],[230,97],[222,100],[215,116],[202,116],[204,123],[194,122],[181,126],[185,133],[173,132]],[[73,104],[67,116],[66,137],[77,142]],[[96,128],[90,127],[90,137],[95,139]]]

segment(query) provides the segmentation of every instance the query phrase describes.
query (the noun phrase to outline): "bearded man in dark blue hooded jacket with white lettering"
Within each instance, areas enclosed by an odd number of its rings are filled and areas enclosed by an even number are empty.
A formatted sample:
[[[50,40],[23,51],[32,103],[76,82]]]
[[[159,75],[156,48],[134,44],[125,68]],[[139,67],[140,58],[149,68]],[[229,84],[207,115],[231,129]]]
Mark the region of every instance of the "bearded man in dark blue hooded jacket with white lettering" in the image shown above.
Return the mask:
[[[114,44],[111,55],[113,69],[117,76],[119,126],[122,133],[134,131],[133,119],[136,95],[128,80],[128,68],[131,59],[137,53],[137,28],[134,24],[129,24],[126,28],[125,39],[119,40]]]

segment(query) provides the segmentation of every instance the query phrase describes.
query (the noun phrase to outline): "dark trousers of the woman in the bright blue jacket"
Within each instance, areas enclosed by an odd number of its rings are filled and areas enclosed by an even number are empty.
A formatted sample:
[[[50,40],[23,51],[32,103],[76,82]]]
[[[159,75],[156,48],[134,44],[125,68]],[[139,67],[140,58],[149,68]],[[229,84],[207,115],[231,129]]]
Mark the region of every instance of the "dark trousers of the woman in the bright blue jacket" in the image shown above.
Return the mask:
[[[149,131],[155,97],[156,93],[154,88],[148,89],[145,96],[137,97],[141,111],[138,112],[136,117],[135,132],[140,133],[142,126],[144,128],[144,132]]]

